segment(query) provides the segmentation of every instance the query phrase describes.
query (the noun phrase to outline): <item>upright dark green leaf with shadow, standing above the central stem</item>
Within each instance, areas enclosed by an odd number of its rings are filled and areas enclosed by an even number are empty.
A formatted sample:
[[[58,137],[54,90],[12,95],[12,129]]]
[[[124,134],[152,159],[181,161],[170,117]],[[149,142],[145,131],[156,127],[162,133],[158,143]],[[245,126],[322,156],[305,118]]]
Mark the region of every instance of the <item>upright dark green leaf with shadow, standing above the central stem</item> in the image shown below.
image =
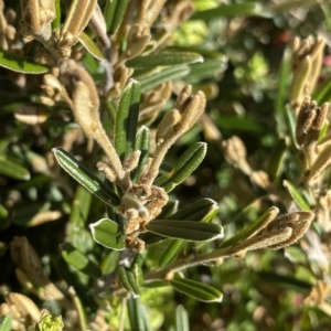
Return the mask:
[[[120,98],[115,122],[115,148],[121,157],[135,150],[140,103],[140,84],[131,79]]]

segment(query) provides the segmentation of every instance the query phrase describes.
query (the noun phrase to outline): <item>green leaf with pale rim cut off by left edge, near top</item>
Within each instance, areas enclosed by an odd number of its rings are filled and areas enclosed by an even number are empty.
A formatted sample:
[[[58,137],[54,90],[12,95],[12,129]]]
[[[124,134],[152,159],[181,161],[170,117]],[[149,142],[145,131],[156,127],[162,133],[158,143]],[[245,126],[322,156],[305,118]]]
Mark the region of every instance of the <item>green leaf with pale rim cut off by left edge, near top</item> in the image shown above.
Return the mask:
[[[44,74],[47,66],[35,64],[28,58],[0,51],[0,66],[21,74]]]

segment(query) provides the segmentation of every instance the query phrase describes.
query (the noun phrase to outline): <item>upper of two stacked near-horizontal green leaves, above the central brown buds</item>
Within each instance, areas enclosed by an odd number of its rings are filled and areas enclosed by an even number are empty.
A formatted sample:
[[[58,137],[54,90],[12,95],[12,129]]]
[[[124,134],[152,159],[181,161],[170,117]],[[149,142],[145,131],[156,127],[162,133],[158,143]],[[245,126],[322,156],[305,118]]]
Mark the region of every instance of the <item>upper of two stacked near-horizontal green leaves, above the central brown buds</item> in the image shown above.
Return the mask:
[[[168,52],[147,56],[138,56],[126,62],[128,67],[145,70],[159,65],[180,65],[203,62],[203,57],[190,52]]]

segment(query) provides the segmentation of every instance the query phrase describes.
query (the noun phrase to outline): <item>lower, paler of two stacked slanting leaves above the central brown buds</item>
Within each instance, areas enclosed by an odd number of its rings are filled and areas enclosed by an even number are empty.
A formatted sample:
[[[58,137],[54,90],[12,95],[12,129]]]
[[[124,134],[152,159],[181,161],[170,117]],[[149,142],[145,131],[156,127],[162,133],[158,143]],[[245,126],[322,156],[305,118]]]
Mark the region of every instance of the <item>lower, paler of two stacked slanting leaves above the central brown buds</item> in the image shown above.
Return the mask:
[[[183,78],[190,73],[190,67],[188,65],[177,65],[160,68],[159,71],[152,71],[149,75],[142,78],[137,78],[140,82],[141,93],[153,89],[158,85],[169,82],[178,81]]]

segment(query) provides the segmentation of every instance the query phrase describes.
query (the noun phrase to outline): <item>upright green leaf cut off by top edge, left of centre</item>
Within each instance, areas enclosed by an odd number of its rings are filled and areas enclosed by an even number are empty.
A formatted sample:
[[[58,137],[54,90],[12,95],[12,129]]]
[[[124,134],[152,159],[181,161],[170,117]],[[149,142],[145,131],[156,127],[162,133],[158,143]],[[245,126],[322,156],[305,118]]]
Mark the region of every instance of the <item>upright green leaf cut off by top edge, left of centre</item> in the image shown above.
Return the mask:
[[[107,1],[105,20],[108,33],[113,34],[118,29],[124,19],[129,1],[130,0]]]

